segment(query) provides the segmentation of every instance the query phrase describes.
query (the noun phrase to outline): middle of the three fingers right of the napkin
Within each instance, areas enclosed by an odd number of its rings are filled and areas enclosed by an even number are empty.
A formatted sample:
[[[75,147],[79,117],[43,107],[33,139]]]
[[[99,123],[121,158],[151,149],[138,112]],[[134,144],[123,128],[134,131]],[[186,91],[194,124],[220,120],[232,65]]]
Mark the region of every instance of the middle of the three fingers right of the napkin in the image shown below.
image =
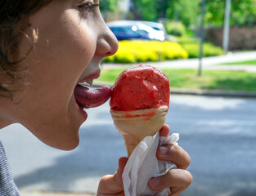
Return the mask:
[[[186,169],[191,163],[190,155],[179,145],[160,145],[156,151],[156,157],[171,161],[180,169]]]

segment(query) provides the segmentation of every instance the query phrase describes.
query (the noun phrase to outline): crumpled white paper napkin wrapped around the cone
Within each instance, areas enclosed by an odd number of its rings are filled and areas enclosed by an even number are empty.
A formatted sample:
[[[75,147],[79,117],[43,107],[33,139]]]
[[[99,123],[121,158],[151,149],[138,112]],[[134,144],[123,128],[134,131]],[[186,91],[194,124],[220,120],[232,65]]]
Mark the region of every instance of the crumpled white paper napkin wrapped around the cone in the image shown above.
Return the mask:
[[[155,136],[145,137],[137,145],[124,167],[125,196],[167,196],[171,194],[169,188],[156,192],[151,190],[147,184],[150,178],[162,176],[168,170],[176,168],[176,165],[172,162],[158,160],[155,154],[158,145],[177,144],[178,139],[178,133],[173,133],[168,137],[159,137],[159,132],[157,132]]]

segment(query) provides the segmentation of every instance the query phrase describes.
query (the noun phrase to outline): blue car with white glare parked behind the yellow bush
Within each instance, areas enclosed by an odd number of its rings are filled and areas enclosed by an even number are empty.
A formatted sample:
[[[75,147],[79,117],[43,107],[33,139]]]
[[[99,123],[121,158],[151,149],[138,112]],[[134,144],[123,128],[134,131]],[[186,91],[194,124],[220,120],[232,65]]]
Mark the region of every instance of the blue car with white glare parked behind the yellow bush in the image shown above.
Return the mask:
[[[147,39],[164,41],[164,32],[138,20],[117,20],[107,23],[118,40]]]

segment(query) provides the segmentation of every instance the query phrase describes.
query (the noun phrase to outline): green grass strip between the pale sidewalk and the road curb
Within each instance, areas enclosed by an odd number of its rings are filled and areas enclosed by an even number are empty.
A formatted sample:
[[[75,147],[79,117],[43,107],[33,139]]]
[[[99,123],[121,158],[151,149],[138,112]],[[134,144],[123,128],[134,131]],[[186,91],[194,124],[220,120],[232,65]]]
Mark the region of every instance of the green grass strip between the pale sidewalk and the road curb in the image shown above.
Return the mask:
[[[115,82],[124,69],[102,69],[99,81]],[[203,70],[197,76],[196,69],[162,69],[173,88],[256,91],[256,73],[239,71]]]

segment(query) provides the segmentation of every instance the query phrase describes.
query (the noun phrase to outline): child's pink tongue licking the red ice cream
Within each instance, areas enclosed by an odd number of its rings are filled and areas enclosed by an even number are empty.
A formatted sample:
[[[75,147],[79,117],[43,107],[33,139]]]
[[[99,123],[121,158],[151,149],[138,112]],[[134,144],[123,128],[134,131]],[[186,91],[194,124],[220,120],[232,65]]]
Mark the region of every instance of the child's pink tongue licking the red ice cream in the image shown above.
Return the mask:
[[[104,104],[111,96],[110,87],[99,87],[97,89],[89,89],[77,85],[74,88],[74,97],[78,105],[83,108],[94,108]]]

